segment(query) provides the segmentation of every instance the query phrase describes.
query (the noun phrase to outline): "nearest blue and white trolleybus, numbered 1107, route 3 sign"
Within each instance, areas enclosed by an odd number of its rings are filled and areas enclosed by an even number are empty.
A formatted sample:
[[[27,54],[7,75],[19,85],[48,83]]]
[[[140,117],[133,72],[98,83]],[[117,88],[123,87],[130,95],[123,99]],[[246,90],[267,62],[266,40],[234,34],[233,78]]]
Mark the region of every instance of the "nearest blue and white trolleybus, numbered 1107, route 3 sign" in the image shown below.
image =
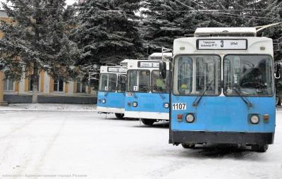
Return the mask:
[[[272,39],[256,29],[198,28],[175,39],[169,142],[250,145],[274,142]]]

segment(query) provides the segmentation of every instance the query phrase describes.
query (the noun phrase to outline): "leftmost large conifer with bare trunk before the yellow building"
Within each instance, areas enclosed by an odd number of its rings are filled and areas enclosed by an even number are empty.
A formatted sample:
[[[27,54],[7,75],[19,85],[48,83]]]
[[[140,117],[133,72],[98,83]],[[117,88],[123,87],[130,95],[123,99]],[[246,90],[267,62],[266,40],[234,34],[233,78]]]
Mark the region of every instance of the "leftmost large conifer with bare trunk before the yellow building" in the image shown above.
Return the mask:
[[[68,38],[69,18],[62,0],[9,0],[13,6],[3,4],[13,24],[1,22],[0,62],[6,76],[20,80],[30,78],[32,103],[37,103],[39,70],[49,73],[55,80],[67,80],[73,75],[79,51]]]

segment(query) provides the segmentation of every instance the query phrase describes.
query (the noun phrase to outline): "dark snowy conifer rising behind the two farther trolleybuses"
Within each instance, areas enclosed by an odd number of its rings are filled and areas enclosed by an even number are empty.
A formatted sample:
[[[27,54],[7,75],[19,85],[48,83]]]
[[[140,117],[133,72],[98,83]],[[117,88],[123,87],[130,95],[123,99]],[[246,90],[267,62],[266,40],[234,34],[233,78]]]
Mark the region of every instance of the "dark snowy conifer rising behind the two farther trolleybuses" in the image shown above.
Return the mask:
[[[87,0],[77,6],[78,25],[72,37],[82,51],[78,66],[119,63],[143,53],[135,16],[140,0]]]

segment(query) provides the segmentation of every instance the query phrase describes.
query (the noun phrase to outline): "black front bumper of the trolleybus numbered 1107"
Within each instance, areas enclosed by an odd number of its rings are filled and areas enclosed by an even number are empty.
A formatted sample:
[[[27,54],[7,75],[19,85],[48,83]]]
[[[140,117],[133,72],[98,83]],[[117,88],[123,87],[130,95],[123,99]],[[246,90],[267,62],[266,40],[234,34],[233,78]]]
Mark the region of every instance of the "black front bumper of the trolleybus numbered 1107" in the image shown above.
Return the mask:
[[[273,144],[274,132],[170,131],[170,144]]]

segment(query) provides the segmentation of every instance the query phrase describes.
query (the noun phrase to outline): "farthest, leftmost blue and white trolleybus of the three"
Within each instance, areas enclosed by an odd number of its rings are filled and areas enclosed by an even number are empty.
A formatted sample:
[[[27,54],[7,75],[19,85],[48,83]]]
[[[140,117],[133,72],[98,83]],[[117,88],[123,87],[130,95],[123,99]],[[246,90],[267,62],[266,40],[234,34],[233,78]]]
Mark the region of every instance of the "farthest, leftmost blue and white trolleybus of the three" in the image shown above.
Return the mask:
[[[101,66],[97,111],[124,116],[126,66]]]

